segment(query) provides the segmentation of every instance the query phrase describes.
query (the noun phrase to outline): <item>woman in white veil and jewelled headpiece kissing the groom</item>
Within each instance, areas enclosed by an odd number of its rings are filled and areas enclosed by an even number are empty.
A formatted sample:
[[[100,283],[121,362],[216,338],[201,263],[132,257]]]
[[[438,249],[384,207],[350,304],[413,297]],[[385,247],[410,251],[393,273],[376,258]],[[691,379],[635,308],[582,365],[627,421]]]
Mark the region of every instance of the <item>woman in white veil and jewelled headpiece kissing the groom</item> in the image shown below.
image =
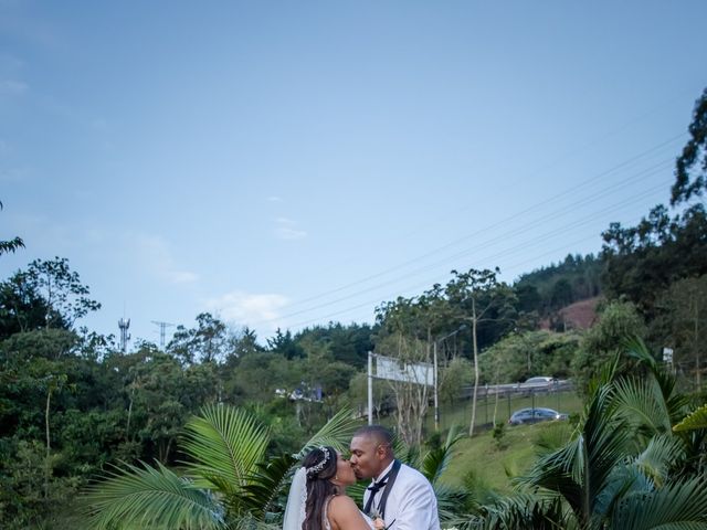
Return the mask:
[[[355,483],[351,465],[334,447],[312,449],[292,481],[283,530],[384,529],[382,519],[372,521],[346,495]]]

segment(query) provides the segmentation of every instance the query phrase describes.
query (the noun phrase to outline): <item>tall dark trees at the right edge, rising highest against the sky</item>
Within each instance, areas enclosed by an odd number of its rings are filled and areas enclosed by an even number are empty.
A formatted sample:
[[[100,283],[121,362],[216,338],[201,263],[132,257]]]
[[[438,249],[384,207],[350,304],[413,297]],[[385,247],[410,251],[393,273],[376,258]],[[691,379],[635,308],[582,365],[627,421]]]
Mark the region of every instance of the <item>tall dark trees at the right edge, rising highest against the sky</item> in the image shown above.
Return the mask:
[[[707,370],[707,91],[695,105],[688,130],[675,167],[675,210],[659,204],[635,226],[612,223],[604,231],[602,286],[608,298],[635,306],[648,344],[673,350],[674,367],[699,390]]]

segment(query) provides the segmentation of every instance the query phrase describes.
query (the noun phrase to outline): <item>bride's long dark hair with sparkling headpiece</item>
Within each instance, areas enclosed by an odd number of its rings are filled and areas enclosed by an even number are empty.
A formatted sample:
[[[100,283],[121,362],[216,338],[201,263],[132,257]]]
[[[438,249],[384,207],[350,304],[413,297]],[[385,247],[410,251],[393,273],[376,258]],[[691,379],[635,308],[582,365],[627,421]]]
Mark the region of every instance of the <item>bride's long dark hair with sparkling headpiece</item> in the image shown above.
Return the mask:
[[[309,452],[302,465],[307,469],[307,504],[303,530],[324,529],[324,506],[340,488],[331,483],[336,476],[338,456],[334,447],[317,447]]]

